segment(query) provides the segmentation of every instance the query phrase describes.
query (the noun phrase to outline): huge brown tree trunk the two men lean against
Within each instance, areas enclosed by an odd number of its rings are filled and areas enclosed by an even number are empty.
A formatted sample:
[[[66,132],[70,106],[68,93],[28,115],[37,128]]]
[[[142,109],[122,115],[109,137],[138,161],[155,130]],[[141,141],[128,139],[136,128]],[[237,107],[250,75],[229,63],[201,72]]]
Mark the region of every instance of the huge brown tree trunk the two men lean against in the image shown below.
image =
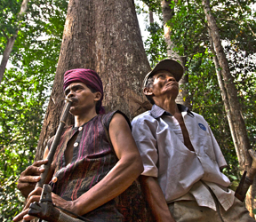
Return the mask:
[[[42,158],[47,140],[59,125],[64,104],[63,74],[77,67],[93,69],[100,75],[105,93],[103,106],[107,112],[119,109],[132,119],[145,111],[148,102],[142,95],[141,84],[150,66],[132,0],[69,1],[60,58],[36,160]],[[69,118],[68,123],[71,122]],[[134,197],[131,209],[140,209],[141,219],[145,221],[145,208],[137,206],[138,200],[138,196]],[[131,211],[129,215],[136,217]]]

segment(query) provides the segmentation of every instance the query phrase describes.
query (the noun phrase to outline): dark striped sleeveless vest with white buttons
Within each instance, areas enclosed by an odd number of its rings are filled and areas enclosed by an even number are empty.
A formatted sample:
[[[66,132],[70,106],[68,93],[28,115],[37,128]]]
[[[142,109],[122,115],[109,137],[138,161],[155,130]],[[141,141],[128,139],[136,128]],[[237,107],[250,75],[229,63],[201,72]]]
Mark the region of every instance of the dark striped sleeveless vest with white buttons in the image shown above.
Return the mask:
[[[84,123],[82,128],[68,127],[60,138],[60,145],[54,155],[54,176],[52,192],[67,201],[76,200],[104,178],[117,163],[115,150],[108,142],[109,123],[116,113],[97,115]],[[124,114],[122,114],[124,115]],[[125,119],[130,125],[128,118]],[[78,133],[74,143],[73,158],[66,166],[64,152],[69,139]],[[48,147],[51,148],[52,139]],[[140,183],[136,180],[123,194],[99,208],[84,215],[92,221],[145,221],[147,210],[141,195]]]

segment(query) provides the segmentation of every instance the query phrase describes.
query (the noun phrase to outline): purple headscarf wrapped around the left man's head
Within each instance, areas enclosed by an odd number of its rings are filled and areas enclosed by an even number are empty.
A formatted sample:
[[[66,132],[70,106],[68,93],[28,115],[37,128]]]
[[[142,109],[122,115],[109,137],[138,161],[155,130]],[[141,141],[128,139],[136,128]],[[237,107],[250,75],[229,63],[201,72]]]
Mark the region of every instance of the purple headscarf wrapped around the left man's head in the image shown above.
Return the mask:
[[[64,74],[63,90],[65,90],[70,83],[84,83],[93,90],[100,91],[100,109],[97,113],[105,114],[105,110],[101,105],[103,99],[103,86],[100,80],[100,76],[95,71],[85,68],[76,68],[68,70]]]

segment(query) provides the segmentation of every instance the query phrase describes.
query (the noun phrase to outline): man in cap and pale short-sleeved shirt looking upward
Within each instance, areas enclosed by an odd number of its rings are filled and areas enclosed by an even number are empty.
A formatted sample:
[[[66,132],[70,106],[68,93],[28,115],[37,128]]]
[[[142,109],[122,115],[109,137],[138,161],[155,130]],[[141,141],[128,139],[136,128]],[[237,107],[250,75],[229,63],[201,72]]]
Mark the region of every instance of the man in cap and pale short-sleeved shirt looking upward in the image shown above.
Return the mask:
[[[160,61],[144,79],[153,104],[132,120],[144,171],[141,177],[156,221],[254,221],[228,189],[227,163],[202,115],[176,104],[183,67]]]

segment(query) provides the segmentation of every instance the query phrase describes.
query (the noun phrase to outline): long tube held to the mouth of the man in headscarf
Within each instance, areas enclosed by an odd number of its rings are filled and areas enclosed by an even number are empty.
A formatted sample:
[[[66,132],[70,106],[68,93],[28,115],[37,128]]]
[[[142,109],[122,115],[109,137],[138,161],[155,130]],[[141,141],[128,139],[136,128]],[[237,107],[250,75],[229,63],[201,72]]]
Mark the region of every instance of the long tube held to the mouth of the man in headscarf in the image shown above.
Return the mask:
[[[52,141],[52,147],[51,147],[50,152],[49,152],[49,154],[47,156],[48,163],[44,164],[44,172],[41,174],[41,179],[40,179],[40,181],[37,182],[36,187],[37,186],[43,187],[43,185],[45,183],[45,180],[47,178],[48,172],[49,172],[49,170],[51,168],[52,160],[53,160],[56,148],[59,145],[60,137],[61,137],[62,131],[64,129],[64,126],[66,124],[65,121],[67,120],[69,109],[70,109],[71,103],[72,103],[72,100],[70,100],[70,99],[66,99],[66,101],[67,101],[66,105],[63,108],[62,114],[60,116],[59,127],[58,127],[58,129],[56,131],[55,137],[54,137],[54,139]],[[28,221],[23,220],[23,222],[28,222]]]

